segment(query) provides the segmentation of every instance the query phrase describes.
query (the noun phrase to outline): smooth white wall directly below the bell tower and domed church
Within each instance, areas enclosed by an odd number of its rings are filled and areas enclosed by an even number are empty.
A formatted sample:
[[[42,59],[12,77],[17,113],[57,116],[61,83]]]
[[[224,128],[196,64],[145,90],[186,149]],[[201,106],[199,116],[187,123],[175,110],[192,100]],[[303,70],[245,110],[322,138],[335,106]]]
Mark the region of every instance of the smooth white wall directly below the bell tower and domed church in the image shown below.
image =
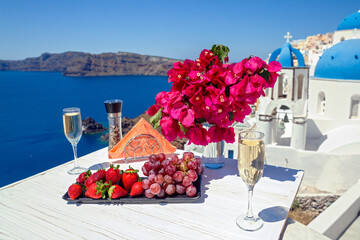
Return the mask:
[[[305,171],[300,191],[341,194],[360,178],[360,154],[327,154],[267,145],[266,163]]]

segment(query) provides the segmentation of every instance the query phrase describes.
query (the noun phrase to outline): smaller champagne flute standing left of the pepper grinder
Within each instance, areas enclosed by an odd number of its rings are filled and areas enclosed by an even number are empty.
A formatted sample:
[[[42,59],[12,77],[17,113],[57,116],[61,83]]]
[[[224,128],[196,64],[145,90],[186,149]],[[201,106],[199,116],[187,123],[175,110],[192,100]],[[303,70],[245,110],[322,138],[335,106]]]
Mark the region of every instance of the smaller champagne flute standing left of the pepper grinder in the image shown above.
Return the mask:
[[[69,140],[74,151],[74,168],[68,171],[69,174],[80,174],[88,169],[80,167],[77,160],[77,143],[82,135],[82,123],[80,108],[64,108],[63,109],[64,133]]]

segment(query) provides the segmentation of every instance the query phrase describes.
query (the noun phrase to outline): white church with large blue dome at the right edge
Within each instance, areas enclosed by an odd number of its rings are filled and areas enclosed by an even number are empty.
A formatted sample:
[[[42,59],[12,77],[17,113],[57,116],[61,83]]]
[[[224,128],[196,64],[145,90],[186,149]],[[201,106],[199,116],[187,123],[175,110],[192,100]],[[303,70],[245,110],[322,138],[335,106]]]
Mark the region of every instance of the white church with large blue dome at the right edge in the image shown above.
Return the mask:
[[[360,39],[327,50],[309,90],[309,141],[318,151],[360,154]]]

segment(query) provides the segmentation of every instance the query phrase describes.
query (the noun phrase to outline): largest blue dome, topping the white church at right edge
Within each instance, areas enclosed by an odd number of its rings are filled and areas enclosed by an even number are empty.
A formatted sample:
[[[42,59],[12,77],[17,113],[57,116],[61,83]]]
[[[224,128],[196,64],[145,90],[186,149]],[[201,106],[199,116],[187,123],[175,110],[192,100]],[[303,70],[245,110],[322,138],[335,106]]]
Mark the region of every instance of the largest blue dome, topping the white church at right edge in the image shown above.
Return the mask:
[[[314,77],[360,80],[360,39],[339,42],[324,52]]]

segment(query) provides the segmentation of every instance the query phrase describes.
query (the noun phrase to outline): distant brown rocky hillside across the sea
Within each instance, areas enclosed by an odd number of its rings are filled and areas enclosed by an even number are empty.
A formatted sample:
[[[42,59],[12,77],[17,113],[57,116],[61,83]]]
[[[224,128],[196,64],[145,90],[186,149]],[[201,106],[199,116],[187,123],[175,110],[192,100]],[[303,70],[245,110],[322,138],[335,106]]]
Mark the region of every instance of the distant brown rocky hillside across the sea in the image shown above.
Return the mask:
[[[0,71],[62,72],[65,76],[155,75],[166,76],[178,60],[135,53],[43,53],[25,60],[0,60]]]

